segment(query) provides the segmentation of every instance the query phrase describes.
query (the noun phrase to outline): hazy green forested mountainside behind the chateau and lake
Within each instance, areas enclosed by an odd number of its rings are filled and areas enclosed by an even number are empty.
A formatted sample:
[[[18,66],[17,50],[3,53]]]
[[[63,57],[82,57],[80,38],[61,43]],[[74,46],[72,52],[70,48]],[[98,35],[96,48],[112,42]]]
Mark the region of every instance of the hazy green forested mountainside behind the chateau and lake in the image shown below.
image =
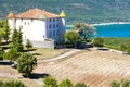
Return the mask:
[[[9,11],[17,14],[34,8],[56,14],[64,10],[67,24],[130,22],[130,0],[0,0],[0,18]]]

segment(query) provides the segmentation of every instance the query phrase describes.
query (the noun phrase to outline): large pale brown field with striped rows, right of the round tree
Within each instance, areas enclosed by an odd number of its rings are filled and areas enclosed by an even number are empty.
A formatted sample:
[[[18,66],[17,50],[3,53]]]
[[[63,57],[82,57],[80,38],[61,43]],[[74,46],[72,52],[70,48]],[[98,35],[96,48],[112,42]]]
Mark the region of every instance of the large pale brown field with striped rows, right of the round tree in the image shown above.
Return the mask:
[[[86,83],[89,87],[110,87],[112,80],[130,78],[130,55],[86,50],[66,60],[40,63],[34,72],[51,74],[57,80]]]

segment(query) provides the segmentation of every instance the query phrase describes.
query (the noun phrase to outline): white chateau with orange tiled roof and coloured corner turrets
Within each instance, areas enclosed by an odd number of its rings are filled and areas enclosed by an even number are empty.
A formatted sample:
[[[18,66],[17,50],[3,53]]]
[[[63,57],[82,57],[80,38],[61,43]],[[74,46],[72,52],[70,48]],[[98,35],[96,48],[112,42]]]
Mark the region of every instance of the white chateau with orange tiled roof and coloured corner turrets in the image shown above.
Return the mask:
[[[10,12],[8,15],[10,29],[21,29],[23,40],[31,41],[54,40],[55,44],[64,41],[65,13],[60,15],[46,10],[31,9],[17,15]]]

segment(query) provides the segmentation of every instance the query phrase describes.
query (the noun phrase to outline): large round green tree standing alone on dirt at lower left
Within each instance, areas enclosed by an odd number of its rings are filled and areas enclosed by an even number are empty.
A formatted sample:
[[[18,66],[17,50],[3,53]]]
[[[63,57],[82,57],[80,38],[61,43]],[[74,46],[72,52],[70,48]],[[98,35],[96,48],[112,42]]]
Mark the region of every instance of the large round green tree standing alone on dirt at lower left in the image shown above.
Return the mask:
[[[30,53],[23,53],[17,59],[17,70],[23,73],[24,76],[28,77],[34,67],[37,65],[37,59]]]

